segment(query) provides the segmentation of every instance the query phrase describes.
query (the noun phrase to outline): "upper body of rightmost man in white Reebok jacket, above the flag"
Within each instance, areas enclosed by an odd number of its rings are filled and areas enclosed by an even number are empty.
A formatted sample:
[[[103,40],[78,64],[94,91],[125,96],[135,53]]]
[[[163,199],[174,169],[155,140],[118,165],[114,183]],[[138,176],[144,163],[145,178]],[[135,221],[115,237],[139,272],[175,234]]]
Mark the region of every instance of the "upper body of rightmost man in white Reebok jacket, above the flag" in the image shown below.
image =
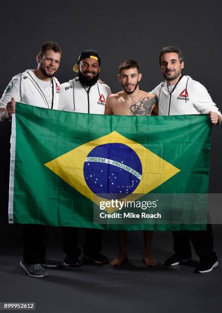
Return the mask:
[[[159,62],[165,81],[151,91],[158,97],[159,115],[210,113],[212,124],[220,123],[221,114],[206,88],[190,76],[182,74],[182,51],[174,46],[165,47],[161,51]]]

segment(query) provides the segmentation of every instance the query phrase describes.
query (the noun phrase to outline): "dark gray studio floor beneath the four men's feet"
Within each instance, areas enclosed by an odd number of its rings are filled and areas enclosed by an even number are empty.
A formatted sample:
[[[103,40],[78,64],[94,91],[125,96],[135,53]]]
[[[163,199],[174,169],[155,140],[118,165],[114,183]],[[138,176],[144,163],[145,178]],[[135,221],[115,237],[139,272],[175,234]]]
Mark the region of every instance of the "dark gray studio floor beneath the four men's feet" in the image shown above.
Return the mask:
[[[82,264],[76,268],[48,269],[46,278],[31,278],[19,266],[21,228],[1,229],[0,302],[35,302],[37,312],[180,312],[219,313],[222,307],[222,227],[213,227],[219,266],[209,274],[194,274],[198,258],[186,265],[165,267],[172,254],[170,232],[155,232],[153,255],[158,265],[142,262],[143,236],[128,233],[129,262],[119,266]],[[84,240],[81,230],[80,239]],[[48,228],[48,256],[63,260],[62,231]],[[3,240],[4,239],[4,240]],[[80,244],[81,246],[81,244]],[[112,260],[118,252],[116,232],[103,233],[103,254]]]

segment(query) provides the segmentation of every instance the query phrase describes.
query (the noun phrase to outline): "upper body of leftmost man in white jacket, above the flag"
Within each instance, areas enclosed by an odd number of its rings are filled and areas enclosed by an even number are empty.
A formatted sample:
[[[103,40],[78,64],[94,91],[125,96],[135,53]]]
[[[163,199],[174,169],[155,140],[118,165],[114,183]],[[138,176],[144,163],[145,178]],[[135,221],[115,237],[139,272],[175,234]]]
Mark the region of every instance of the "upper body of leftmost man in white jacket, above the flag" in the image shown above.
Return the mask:
[[[58,109],[60,86],[54,75],[60,64],[59,49],[56,42],[47,41],[36,56],[37,69],[26,70],[11,79],[0,100],[1,121],[11,119],[11,115],[15,113],[15,101]]]

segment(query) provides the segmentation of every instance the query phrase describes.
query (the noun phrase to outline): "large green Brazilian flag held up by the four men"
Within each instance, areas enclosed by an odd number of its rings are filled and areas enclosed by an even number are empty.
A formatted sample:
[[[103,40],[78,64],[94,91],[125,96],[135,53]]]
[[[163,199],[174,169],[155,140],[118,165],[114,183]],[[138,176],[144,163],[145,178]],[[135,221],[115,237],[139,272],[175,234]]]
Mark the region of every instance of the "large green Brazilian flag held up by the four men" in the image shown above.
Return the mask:
[[[106,207],[112,199],[207,194],[210,139],[207,115],[103,116],[16,103],[9,223],[116,230],[205,229],[203,224],[157,221],[98,223],[94,217],[101,201]],[[117,211],[107,205],[104,212]]]

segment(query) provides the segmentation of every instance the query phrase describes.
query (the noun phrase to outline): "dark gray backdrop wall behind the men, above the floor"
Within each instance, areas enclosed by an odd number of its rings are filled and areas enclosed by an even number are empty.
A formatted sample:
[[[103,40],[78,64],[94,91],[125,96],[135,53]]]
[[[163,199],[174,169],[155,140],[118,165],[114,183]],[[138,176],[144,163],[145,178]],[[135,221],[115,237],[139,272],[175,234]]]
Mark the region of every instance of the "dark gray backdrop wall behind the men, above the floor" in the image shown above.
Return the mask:
[[[119,63],[138,61],[145,91],[163,81],[158,64],[162,47],[181,47],[184,74],[203,83],[220,107],[221,11],[218,0],[203,1],[10,1],[1,4],[0,93],[10,79],[36,67],[36,54],[47,40],[62,48],[57,78],[73,78],[72,67],[83,49],[102,57],[101,78],[113,92],[120,91]],[[1,223],[7,224],[10,123],[0,123]],[[210,192],[220,193],[221,126],[213,127]]]

